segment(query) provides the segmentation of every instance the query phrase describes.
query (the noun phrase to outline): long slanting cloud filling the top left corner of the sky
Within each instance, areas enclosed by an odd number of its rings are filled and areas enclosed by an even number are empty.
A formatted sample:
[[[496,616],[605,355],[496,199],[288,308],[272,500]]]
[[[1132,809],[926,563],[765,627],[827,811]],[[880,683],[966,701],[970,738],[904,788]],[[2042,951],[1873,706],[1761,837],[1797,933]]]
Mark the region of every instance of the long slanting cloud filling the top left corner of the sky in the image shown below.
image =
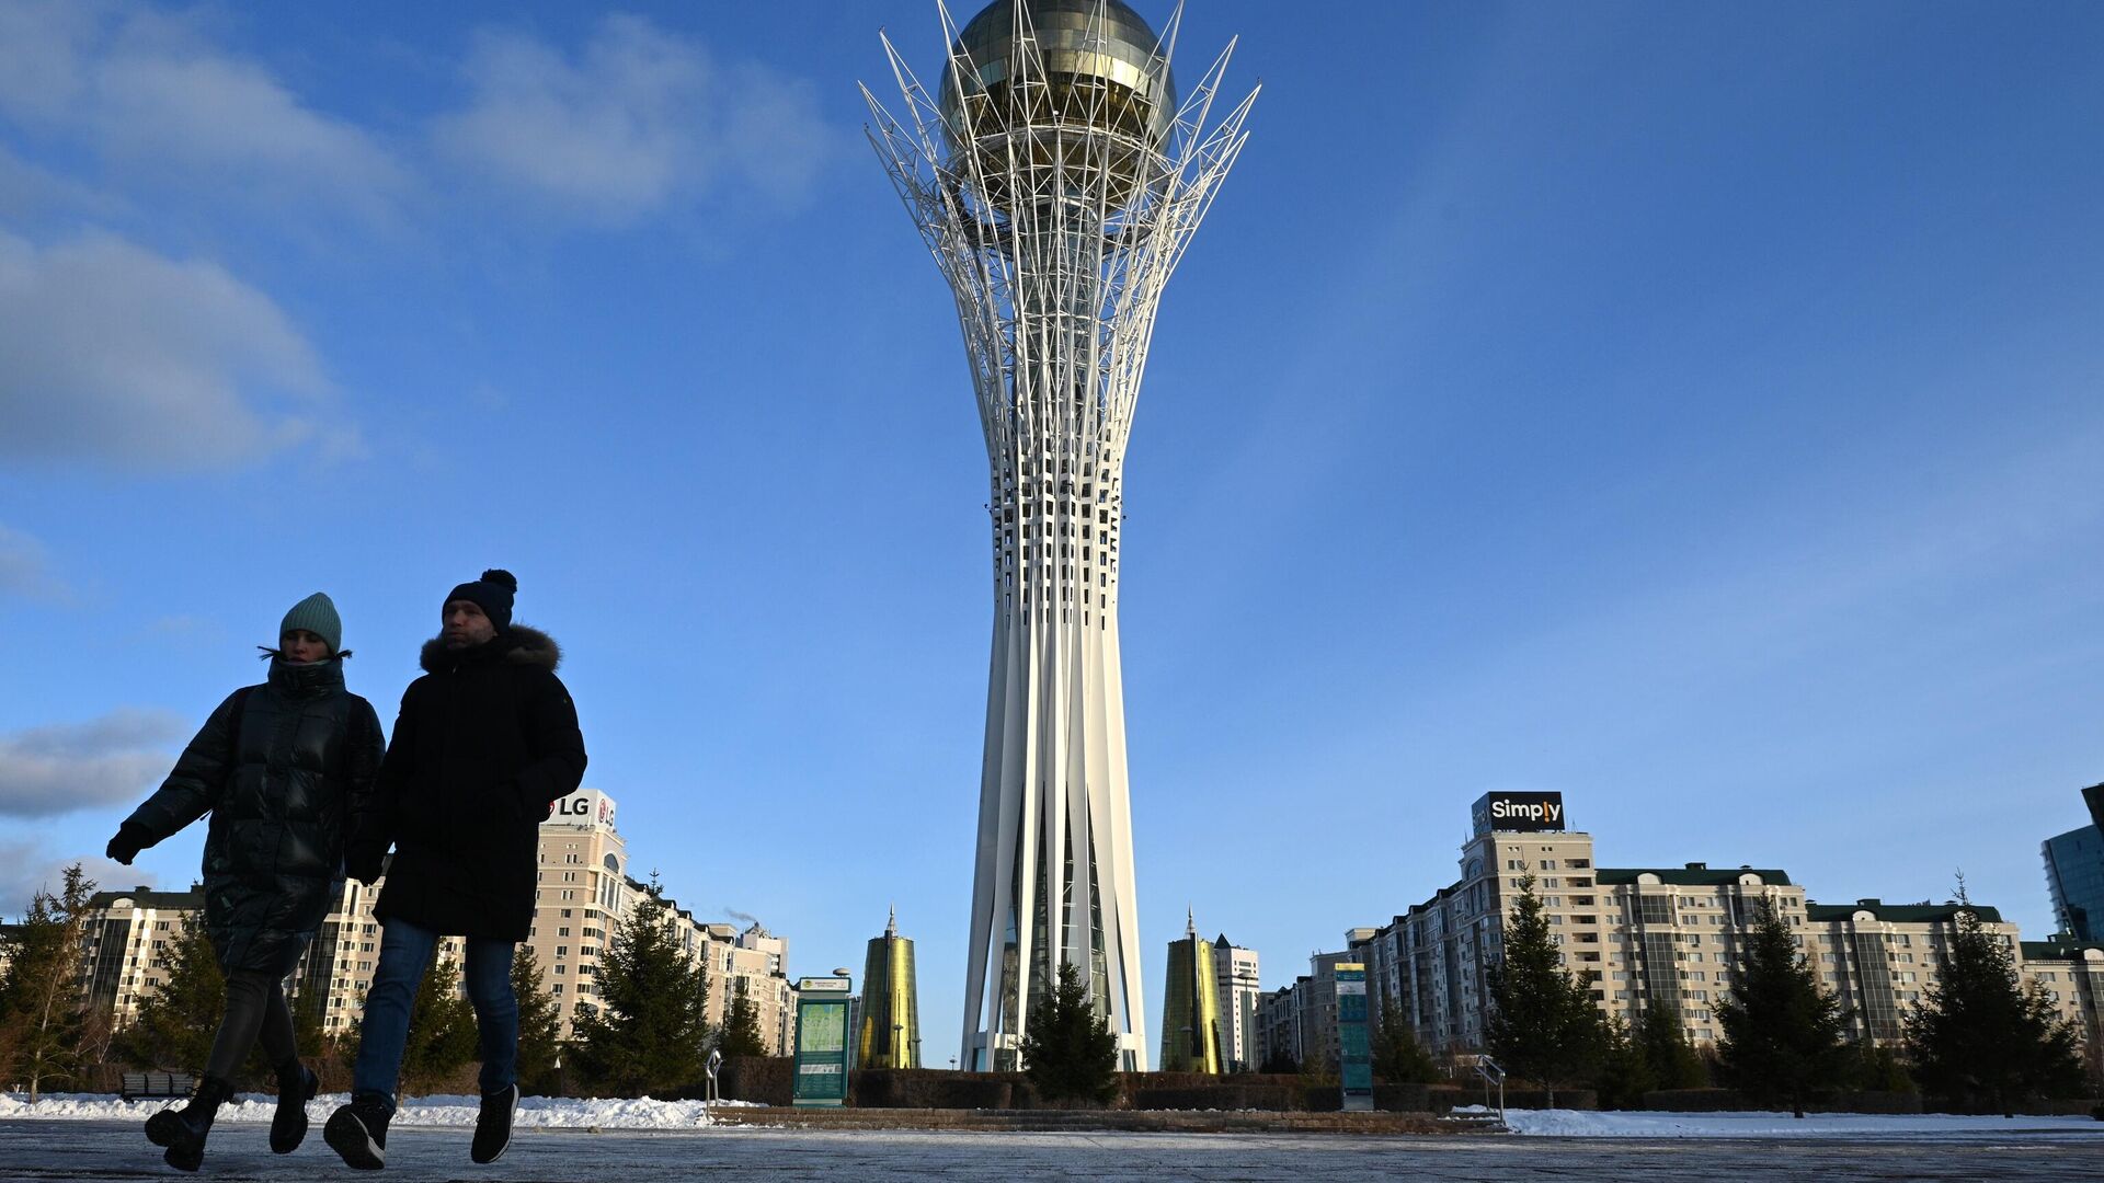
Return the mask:
[[[364,128],[307,107],[189,19],[151,11],[0,4],[0,116],[84,135],[130,166],[210,177],[223,196],[322,198],[379,215],[408,183]]]

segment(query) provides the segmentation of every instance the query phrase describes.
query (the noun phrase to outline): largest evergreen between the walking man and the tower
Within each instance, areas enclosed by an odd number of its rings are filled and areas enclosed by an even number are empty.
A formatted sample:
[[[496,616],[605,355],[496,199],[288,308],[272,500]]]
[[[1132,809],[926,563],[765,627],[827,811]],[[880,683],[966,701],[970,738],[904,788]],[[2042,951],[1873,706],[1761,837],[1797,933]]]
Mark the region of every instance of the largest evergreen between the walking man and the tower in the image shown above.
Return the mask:
[[[598,983],[598,1008],[579,1008],[572,1023],[574,1063],[587,1090],[642,1097],[701,1080],[709,977],[673,941],[656,876],[614,926]]]

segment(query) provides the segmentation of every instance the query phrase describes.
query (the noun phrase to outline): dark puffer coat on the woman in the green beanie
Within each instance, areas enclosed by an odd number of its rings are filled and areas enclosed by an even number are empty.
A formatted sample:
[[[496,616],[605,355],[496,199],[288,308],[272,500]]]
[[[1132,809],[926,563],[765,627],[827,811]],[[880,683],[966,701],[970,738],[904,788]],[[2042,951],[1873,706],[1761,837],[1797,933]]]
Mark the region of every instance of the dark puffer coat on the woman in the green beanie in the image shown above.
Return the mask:
[[[240,703],[240,720],[234,718]],[[133,810],[147,846],[213,815],[204,834],[204,928],[223,970],[288,975],[343,882],[343,842],[375,806],[381,720],[343,688],[343,661],[271,659],[236,690]]]

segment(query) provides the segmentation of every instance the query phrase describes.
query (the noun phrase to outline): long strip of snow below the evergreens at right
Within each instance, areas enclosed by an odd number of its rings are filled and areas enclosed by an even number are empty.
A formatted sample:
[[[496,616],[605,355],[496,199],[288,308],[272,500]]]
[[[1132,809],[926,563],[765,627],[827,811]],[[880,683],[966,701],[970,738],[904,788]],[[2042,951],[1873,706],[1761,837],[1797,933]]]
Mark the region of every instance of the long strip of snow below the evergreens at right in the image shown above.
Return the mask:
[[[1481,1105],[1456,1114],[1481,1114]],[[1807,1139],[1889,1137],[1936,1139],[1978,1135],[2089,1135],[2104,1141],[2096,1118],[1976,1118],[1965,1114],[1656,1114],[1582,1109],[1506,1109],[1515,1135],[1586,1139]]]

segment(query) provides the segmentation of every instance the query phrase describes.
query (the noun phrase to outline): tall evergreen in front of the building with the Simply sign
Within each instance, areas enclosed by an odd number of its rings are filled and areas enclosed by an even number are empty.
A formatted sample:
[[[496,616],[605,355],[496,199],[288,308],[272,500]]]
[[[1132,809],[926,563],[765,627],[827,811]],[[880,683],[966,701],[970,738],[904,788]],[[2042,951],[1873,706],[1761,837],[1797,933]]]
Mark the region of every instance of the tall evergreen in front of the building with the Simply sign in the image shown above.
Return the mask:
[[[1563,968],[1534,876],[1504,922],[1504,956],[1485,973],[1490,1012],[1483,1042],[1506,1074],[1534,1080],[1555,1105],[1557,1084],[1593,1074],[1607,1034],[1593,987]]]

